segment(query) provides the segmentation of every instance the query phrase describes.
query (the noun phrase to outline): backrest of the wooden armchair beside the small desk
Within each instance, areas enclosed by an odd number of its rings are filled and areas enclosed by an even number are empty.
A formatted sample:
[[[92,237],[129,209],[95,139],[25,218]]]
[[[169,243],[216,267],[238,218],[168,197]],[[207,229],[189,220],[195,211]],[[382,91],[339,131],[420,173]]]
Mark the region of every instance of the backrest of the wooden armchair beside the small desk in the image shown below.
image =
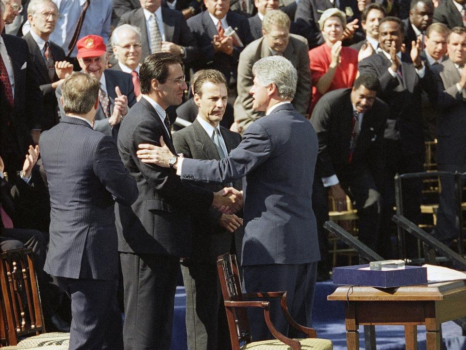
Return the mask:
[[[217,260],[217,271],[223,299],[225,301],[243,301],[236,256],[232,254],[220,255]],[[239,350],[245,344],[252,342],[248,313],[244,308],[230,306],[225,307],[225,311],[228,328],[230,329],[232,349]]]

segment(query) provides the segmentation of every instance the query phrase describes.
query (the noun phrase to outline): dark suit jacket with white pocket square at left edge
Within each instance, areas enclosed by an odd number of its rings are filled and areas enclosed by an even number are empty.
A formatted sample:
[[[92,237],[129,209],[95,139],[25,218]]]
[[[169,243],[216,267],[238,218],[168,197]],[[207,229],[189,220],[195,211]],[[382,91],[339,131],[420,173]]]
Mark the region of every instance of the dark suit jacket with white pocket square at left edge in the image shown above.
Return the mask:
[[[16,129],[18,155],[26,154],[31,140],[31,129],[40,129],[40,116],[43,114],[42,94],[39,90],[37,77],[34,74],[31,55],[26,41],[20,37],[2,34],[6,51],[11,58],[15,76],[15,100],[10,108],[3,100],[0,112],[2,130],[8,118]],[[5,137],[1,135],[5,140]]]

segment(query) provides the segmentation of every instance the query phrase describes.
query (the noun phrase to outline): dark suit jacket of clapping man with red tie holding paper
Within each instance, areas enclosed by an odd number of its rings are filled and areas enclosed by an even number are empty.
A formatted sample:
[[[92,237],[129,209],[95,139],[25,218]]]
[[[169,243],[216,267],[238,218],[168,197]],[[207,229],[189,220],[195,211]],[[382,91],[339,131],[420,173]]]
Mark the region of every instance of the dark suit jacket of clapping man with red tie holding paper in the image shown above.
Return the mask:
[[[232,11],[227,13],[226,19],[228,25],[235,30],[246,47],[252,41],[248,19]],[[243,51],[243,48],[233,47],[232,55],[214,52],[212,38],[218,33],[208,11],[189,18],[187,22],[200,50],[199,59],[197,62],[193,62],[193,68],[195,70],[206,68],[220,70],[227,78],[227,81],[230,81],[230,77],[232,76],[236,79],[239,54]]]

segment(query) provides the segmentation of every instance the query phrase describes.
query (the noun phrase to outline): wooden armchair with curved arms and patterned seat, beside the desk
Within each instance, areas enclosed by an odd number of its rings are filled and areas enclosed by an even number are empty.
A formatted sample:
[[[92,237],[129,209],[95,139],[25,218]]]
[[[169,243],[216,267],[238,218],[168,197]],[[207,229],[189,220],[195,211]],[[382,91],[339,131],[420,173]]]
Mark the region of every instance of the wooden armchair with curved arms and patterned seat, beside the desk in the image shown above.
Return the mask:
[[[332,350],[332,342],[327,339],[316,339],[316,330],[298,324],[289,314],[286,307],[286,292],[242,293],[236,256],[224,254],[217,260],[218,278],[225,300],[228,327],[233,350]],[[269,301],[253,301],[257,298],[281,298],[283,315],[288,323],[306,334],[308,338],[291,339],[277,331],[270,320]],[[270,333],[277,340],[252,341],[249,329],[247,308],[256,307],[264,310],[264,318]]]

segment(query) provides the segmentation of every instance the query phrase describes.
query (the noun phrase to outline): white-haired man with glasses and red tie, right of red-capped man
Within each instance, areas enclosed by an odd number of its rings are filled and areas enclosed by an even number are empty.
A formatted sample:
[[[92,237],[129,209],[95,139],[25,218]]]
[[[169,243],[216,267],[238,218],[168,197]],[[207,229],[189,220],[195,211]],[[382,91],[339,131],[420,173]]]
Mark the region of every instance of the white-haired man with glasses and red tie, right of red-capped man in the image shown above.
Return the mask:
[[[141,34],[137,27],[130,24],[122,24],[116,27],[112,33],[113,53],[118,62],[112,70],[124,71],[131,74],[136,100],[141,99],[139,86],[139,62],[141,61]]]

